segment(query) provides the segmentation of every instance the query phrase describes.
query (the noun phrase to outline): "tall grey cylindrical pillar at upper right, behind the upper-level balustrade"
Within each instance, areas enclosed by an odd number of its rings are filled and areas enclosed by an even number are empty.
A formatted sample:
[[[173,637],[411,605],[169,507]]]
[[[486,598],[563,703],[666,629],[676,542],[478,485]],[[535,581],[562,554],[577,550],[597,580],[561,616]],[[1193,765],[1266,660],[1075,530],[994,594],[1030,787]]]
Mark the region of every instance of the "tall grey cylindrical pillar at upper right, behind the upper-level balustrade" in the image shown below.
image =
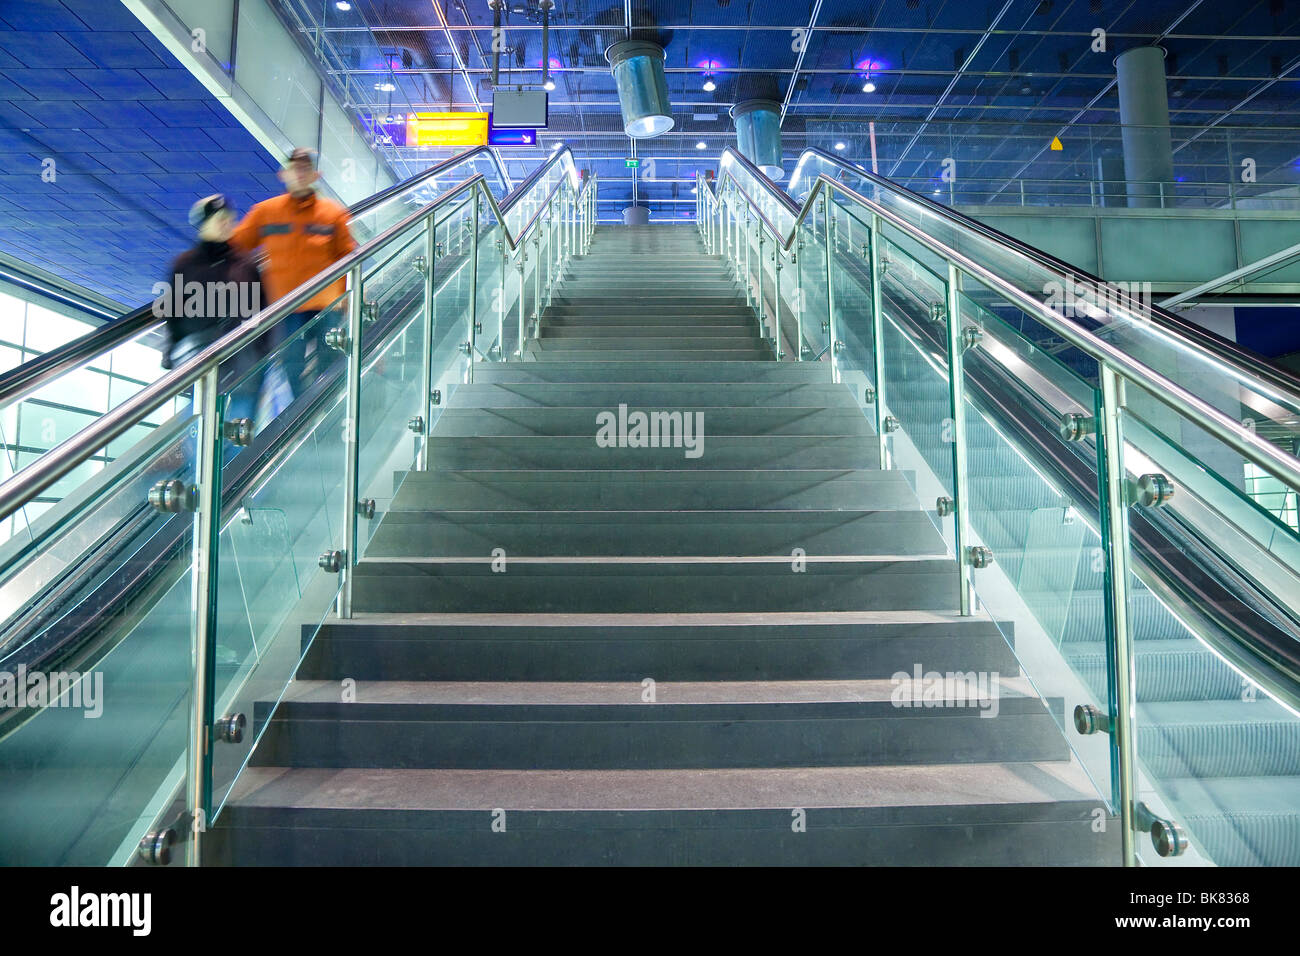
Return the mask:
[[[1124,178],[1130,207],[1173,204],[1174,150],[1169,139],[1165,51],[1138,47],[1115,57]]]

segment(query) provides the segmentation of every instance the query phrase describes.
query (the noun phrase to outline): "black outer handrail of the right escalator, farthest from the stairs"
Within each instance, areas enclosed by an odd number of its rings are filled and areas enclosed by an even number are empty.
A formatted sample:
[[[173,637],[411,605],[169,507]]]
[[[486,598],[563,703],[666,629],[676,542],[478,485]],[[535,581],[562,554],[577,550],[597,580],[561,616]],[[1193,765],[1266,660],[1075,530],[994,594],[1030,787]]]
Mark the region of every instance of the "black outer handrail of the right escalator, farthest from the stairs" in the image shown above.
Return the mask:
[[[1044,268],[1053,269],[1056,272],[1065,273],[1076,282],[1088,284],[1096,287],[1104,286],[1105,281],[1091,272],[1086,272],[1076,265],[1071,265],[1067,261],[1057,259],[1050,252],[1044,252],[1040,248],[1030,246],[1028,243],[1017,239],[1014,235],[1008,235],[991,225],[985,225],[976,219],[971,219],[965,213],[958,212],[942,203],[936,203],[930,196],[923,196],[919,193],[914,193],[906,186],[900,186],[892,179],[887,179],[876,173],[868,173],[866,169],[861,169],[853,163],[848,163],[838,156],[832,156],[824,150],[818,150],[815,147],[806,148],[800,153],[800,161],[794,166],[794,174],[790,177],[792,181],[794,176],[798,176],[800,168],[803,165],[809,156],[814,156],[823,163],[828,163],[833,166],[842,169],[844,172],[857,176],[862,179],[871,182],[881,189],[890,190],[893,193],[905,193],[909,202],[914,202],[923,207],[927,213],[937,216],[939,219],[945,219],[949,222],[962,228],[970,229],[972,232],[983,234],[985,238],[992,239],[1002,246],[1009,246],[1011,250],[1022,256],[1035,260],[1039,265]],[[783,190],[784,193],[784,190]],[[1188,321],[1174,312],[1167,311],[1161,306],[1152,304],[1149,307],[1150,317],[1157,325],[1164,326],[1173,334],[1180,336],[1212,354],[1212,358],[1217,362],[1223,362],[1227,364],[1238,365],[1242,371],[1249,373],[1253,377],[1262,378],[1268,381],[1270,386],[1278,389],[1279,392],[1290,393],[1290,397],[1296,405],[1300,405],[1300,376],[1292,375],[1284,368],[1273,364],[1265,356],[1253,352],[1230,338],[1225,338],[1196,323]]]

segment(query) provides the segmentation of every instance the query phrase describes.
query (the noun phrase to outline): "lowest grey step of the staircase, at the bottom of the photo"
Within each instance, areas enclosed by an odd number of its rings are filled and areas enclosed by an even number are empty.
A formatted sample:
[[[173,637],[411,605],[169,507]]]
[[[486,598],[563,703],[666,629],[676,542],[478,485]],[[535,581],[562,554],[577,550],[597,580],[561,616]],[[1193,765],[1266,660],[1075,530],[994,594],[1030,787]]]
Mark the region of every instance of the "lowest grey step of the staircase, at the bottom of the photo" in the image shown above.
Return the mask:
[[[1108,821],[1101,834],[1098,812]],[[1118,845],[1119,826],[1083,771],[1044,761],[250,767],[208,832],[205,852],[214,865],[935,866],[1109,864]]]

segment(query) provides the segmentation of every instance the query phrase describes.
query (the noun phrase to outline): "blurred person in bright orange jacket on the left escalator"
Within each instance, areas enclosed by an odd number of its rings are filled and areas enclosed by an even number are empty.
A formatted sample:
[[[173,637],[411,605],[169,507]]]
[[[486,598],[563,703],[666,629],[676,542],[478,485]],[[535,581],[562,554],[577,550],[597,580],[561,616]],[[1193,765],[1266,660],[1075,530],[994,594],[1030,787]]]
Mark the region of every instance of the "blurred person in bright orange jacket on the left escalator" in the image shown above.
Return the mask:
[[[278,177],[285,183],[285,194],[248,209],[230,237],[230,245],[243,252],[251,255],[257,247],[265,251],[261,276],[266,304],[282,299],[356,248],[347,209],[333,199],[316,195],[320,173],[312,150],[294,150]],[[281,346],[316,319],[321,310],[343,295],[344,289],[346,284],[339,278],[277,323],[269,333],[272,347]],[[344,316],[346,306],[337,307],[333,313]],[[316,328],[280,352],[295,393],[302,394],[318,367],[324,365],[320,355],[325,350],[325,326],[337,324],[329,320],[316,323]],[[308,360],[313,360],[317,368],[308,369]]]

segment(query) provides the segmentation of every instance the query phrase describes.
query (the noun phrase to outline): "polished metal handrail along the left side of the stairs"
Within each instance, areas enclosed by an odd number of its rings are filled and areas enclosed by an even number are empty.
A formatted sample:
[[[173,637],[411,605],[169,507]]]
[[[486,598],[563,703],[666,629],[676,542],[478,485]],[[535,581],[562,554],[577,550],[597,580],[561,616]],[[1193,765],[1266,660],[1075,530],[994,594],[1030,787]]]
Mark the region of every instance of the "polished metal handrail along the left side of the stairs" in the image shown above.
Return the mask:
[[[572,161],[571,151],[567,147],[560,152],[569,153],[569,160]],[[551,157],[549,164],[556,161],[559,161],[559,156]],[[554,196],[555,191],[567,181],[567,178],[560,179],[560,182],[552,187],[547,199],[541,204],[538,212],[529,219],[528,224],[520,230],[517,237],[511,234],[510,226],[506,224],[503,207],[497,203],[495,198],[491,195],[491,190],[486,189],[484,185],[486,182],[486,177],[482,173],[477,173],[464,182],[458,183],[454,189],[443,193],[428,206],[416,209],[400,222],[396,222],[364,246],[360,246],[348,255],[343,256],[330,268],[303,282],[276,304],[268,306],[252,319],[242,323],[238,328],[207,346],[203,351],[198,352],[182,365],[155,380],[117,408],[113,408],[100,416],[66,442],[51,449],[21,472],[12,476],[8,481],[0,484],[0,518],[8,518],[12,515],[27,501],[40,494],[40,492],[49,488],[55,481],[81,464],[86,458],[94,454],[96,449],[107,446],[127,429],[143,421],[148,418],[150,412],[157,408],[162,402],[179,395],[200,377],[220,365],[221,362],[234,355],[246,345],[250,345],[272,325],[294,312],[302,302],[311,299],[318,291],[347,276],[354,268],[359,267],[367,258],[373,255],[377,248],[387,245],[411,226],[437,215],[438,211],[441,211],[447,203],[454,200],[462,193],[478,189],[480,194],[488,198],[489,204],[500,222],[502,232],[510,248],[517,250],[526,241],[529,230],[537,228],[537,224],[541,221],[541,212],[549,204],[550,198]],[[516,190],[514,195],[521,196],[523,190]],[[519,200],[516,199],[515,202]],[[510,203],[508,206],[514,203]]]

